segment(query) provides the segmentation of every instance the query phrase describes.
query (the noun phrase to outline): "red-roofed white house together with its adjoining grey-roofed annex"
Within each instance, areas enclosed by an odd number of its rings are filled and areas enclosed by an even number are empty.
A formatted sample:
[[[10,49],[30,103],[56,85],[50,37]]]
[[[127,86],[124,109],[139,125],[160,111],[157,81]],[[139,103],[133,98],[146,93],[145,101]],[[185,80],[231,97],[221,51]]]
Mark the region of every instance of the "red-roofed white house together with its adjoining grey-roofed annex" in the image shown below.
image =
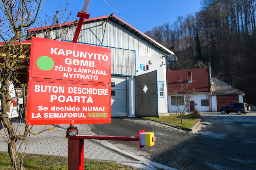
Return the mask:
[[[243,102],[245,95],[245,92],[211,78],[211,67],[168,71],[167,83],[168,112],[178,112],[177,102],[180,109],[184,109],[187,94],[192,96],[187,112],[194,109],[199,112],[217,112],[220,107]]]

